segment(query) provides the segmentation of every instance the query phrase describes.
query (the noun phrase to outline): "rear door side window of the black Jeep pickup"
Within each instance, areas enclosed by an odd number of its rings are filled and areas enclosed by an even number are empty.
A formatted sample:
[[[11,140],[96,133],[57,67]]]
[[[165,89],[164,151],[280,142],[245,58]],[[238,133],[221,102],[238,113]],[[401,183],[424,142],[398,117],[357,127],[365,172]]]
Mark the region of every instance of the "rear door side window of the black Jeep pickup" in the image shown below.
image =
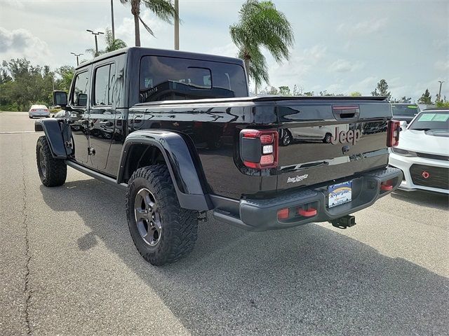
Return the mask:
[[[112,103],[114,102],[114,80],[115,64],[107,64],[95,69],[95,90],[93,95],[93,105],[112,105]]]

